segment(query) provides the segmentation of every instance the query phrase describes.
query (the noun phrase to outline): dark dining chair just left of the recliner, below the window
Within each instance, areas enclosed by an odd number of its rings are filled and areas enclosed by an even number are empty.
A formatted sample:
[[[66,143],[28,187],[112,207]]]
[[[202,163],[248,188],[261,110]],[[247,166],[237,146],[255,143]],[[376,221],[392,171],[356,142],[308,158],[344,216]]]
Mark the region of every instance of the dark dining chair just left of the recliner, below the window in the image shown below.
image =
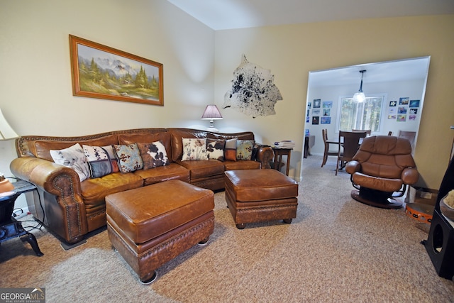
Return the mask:
[[[360,140],[366,136],[367,131],[339,131],[336,176],[338,175],[338,171],[343,169],[345,164],[353,159],[353,156],[360,148]],[[342,153],[341,147],[343,148]]]

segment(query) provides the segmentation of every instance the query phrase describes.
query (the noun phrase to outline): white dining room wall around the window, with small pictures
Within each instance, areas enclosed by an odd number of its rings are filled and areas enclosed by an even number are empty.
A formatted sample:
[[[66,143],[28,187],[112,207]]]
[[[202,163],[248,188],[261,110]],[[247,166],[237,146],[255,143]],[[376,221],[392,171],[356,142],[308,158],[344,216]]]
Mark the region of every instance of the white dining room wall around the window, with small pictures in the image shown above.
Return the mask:
[[[392,131],[394,136],[399,134],[399,131],[418,131],[419,122],[421,120],[421,110],[423,109],[423,100],[421,99],[424,88],[424,80],[407,80],[399,82],[381,82],[381,83],[370,83],[367,84],[366,96],[384,95],[384,107],[382,108],[381,115],[381,128],[377,133],[372,133],[372,136],[387,135],[389,131]],[[328,138],[332,141],[336,141],[339,135],[338,133],[338,111],[340,97],[352,97],[354,92],[357,92],[358,86],[326,86],[326,87],[311,87],[309,89],[308,101],[311,102],[311,109],[309,110],[310,118],[312,118],[312,109],[314,109],[314,99],[321,99],[323,101],[333,101],[333,108],[331,109],[331,123],[318,125],[312,124],[311,119],[309,123],[306,123],[305,129],[309,129],[311,135],[316,136],[315,145],[311,148],[311,153],[314,155],[323,155],[323,139],[321,138],[322,128],[326,128],[328,131]],[[409,97],[411,100],[420,100],[419,113],[416,115],[416,119],[413,121],[398,122],[396,119],[388,119],[389,113],[389,101],[397,101],[399,104],[399,98]],[[397,109],[399,105],[394,107]],[[406,106],[408,107],[408,106]]]

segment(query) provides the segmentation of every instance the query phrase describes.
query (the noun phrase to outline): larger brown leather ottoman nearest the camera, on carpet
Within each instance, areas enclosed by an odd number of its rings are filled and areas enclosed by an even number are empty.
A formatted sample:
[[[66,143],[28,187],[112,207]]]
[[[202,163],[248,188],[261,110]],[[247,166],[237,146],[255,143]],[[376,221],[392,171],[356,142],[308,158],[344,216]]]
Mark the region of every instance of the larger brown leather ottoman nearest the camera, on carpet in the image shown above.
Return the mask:
[[[110,194],[107,234],[118,253],[148,284],[156,269],[214,231],[214,193],[180,180]]]

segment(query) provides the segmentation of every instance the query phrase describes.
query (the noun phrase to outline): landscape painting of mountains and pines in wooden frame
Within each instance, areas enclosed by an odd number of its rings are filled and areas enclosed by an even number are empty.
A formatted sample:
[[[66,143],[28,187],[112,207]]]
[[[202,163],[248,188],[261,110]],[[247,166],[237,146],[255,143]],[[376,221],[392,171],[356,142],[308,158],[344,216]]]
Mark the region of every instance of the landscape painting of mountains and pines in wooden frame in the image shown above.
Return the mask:
[[[161,63],[70,35],[74,96],[164,105]]]

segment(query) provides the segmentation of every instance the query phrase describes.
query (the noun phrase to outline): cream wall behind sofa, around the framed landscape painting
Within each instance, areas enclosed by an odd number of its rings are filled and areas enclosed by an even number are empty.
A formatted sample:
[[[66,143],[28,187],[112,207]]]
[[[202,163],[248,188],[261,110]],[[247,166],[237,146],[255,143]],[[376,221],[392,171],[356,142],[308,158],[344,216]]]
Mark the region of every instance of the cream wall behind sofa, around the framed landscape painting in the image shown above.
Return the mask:
[[[162,63],[164,106],[72,96],[70,34]],[[165,0],[1,1],[0,67],[0,108],[19,135],[206,127],[214,31]],[[13,142],[0,143],[6,176]]]

